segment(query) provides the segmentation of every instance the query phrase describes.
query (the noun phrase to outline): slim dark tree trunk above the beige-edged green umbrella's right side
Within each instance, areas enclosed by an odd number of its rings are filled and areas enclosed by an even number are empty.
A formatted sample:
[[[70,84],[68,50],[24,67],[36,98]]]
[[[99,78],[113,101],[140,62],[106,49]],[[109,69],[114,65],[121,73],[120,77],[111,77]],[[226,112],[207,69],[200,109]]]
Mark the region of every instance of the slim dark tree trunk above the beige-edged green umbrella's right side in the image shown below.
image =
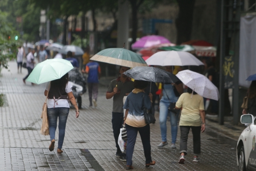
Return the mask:
[[[137,13],[138,13],[138,7],[137,7],[137,0],[130,0],[131,6],[132,6],[132,42],[135,43],[137,39],[137,29],[138,29],[138,21],[137,21]],[[131,47],[130,47],[131,49]]]

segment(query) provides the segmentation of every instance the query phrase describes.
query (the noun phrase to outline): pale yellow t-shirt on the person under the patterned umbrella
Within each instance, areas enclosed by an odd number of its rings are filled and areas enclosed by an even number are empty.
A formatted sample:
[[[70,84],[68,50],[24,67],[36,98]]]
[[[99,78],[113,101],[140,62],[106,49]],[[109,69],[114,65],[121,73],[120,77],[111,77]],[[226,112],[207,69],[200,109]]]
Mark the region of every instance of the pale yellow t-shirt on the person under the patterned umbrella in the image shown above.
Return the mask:
[[[199,110],[204,110],[203,97],[195,94],[183,93],[176,102],[178,108],[182,107],[180,126],[201,126],[202,121]]]

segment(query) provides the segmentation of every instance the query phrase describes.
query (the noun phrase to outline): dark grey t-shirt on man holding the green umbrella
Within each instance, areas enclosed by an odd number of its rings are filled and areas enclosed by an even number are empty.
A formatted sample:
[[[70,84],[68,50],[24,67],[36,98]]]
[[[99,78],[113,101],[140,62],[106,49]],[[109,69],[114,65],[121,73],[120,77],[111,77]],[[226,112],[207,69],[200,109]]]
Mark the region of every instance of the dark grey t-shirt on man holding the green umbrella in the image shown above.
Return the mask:
[[[116,87],[117,79],[114,79],[110,82],[107,93],[111,93],[114,91]],[[118,78],[117,81],[118,93],[113,96],[113,110],[112,112],[124,113],[124,103],[123,98],[126,93],[130,93],[133,90],[133,81],[127,79],[124,83]]]

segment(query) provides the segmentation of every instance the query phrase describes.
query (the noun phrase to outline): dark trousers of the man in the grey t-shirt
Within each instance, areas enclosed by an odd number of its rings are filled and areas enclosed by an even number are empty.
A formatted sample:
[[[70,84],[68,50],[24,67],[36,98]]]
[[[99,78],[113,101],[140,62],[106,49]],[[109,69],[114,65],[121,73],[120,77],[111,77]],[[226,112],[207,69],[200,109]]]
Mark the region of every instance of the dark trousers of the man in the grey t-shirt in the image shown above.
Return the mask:
[[[123,124],[124,113],[112,112],[112,128],[118,152],[121,152],[120,147],[118,146],[118,136],[120,134],[120,128],[123,128]]]

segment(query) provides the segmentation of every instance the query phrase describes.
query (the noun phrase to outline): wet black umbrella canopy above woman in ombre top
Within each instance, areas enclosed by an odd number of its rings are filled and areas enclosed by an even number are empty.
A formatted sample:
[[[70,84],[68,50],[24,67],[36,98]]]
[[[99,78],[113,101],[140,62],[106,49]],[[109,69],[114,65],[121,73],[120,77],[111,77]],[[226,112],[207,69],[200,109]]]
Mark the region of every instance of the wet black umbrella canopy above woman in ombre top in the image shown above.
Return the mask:
[[[158,83],[176,83],[179,80],[174,74],[155,67],[135,67],[124,72],[124,74],[135,80]]]

